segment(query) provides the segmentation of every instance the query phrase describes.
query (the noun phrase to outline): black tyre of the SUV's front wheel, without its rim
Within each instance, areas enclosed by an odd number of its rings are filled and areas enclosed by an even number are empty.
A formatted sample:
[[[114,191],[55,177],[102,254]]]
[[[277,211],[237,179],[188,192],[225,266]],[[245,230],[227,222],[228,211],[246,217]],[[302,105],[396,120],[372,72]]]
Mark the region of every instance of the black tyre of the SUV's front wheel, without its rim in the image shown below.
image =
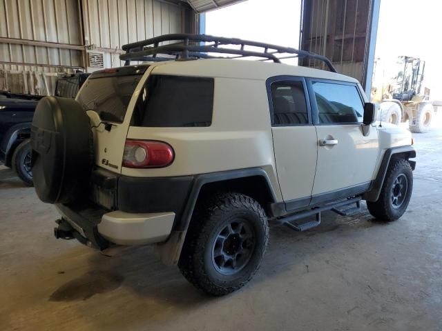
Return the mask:
[[[399,176],[405,176],[407,179],[407,190],[400,206],[394,208],[392,194],[395,180]],[[370,214],[379,221],[396,221],[407,209],[413,190],[413,171],[410,163],[405,159],[392,160],[390,163],[385,180],[381,188],[381,194],[376,202],[367,201],[367,208]]]

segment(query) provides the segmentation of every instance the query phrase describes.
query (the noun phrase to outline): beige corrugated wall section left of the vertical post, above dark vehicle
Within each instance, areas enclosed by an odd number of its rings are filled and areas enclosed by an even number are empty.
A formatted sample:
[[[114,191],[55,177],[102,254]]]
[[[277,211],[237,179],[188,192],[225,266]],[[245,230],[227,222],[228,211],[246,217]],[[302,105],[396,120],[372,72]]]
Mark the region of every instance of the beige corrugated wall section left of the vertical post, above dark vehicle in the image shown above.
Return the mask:
[[[0,3],[0,89],[46,94],[55,72],[81,66],[81,51],[21,44],[19,41],[81,44],[75,0],[3,0]],[[17,43],[15,43],[17,42]],[[23,66],[22,63],[29,64]],[[38,66],[40,65],[40,66]]]

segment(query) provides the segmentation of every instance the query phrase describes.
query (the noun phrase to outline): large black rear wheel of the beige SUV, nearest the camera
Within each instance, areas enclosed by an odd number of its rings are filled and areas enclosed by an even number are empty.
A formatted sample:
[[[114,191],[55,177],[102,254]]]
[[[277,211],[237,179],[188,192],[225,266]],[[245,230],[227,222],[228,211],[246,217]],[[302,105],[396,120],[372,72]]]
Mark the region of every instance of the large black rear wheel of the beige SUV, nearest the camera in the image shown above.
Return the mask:
[[[218,194],[195,210],[178,267],[204,292],[229,294],[253,277],[268,242],[267,217],[257,201]]]

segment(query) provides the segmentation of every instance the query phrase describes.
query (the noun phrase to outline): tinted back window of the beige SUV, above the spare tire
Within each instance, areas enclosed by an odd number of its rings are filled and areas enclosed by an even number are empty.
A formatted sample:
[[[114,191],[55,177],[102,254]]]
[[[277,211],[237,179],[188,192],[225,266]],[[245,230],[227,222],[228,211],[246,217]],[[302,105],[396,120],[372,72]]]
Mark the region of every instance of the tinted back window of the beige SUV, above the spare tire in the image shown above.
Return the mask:
[[[122,123],[131,97],[146,68],[127,67],[94,72],[84,83],[77,101],[94,110],[102,121]]]

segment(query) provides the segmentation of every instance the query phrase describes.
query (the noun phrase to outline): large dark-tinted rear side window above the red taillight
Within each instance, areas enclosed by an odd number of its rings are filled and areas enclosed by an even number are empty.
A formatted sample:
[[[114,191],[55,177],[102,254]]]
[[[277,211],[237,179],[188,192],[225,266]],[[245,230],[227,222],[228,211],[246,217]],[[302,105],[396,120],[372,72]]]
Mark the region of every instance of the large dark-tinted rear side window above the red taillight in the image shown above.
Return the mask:
[[[213,78],[153,74],[140,93],[131,125],[211,126],[213,88]]]

